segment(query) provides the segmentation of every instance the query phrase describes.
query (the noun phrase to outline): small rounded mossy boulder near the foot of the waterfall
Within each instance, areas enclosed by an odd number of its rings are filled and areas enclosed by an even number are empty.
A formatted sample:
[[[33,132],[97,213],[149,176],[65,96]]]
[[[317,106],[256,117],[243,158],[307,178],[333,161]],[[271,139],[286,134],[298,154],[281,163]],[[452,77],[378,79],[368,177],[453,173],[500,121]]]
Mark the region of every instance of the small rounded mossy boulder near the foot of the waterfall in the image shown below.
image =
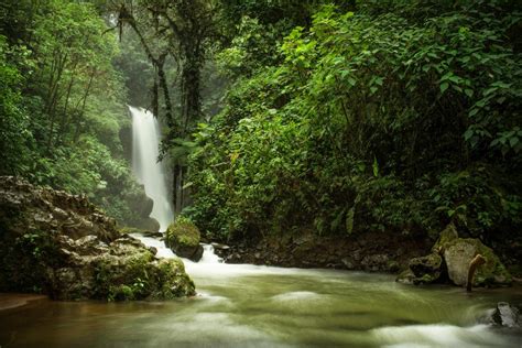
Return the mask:
[[[165,244],[181,258],[199,261],[203,257],[200,238],[199,229],[191,220],[178,217],[166,229]]]

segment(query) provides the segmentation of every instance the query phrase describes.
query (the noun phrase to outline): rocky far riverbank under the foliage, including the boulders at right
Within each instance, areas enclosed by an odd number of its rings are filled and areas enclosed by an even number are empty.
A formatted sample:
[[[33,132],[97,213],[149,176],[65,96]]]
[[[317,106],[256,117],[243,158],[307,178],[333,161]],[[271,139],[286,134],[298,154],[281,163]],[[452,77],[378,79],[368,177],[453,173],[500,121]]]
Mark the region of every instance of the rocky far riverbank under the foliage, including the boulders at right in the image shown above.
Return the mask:
[[[253,263],[295,268],[334,268],[366,272],[400,273],[404,284],[449,283],[467,285],[474,258],[472,286],[509,286],[512,276],[492,249],[480,240],[459,238],[453,224],[433,247],[428,239],[390,233],[317,237],[314,233],[268,236],[250,242],[214,243],[227,263]]]

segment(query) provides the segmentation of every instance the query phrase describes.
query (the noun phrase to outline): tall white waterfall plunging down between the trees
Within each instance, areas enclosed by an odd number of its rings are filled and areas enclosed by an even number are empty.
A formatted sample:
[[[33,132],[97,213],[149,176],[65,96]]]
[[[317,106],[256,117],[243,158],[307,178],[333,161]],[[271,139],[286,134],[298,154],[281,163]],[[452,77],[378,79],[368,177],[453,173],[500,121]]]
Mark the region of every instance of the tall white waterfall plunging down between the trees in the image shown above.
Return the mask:
[[[151,217],[160,222],[164,231],[174,219],[174,209],[168,200],[168,189],[162,163],[157,162],[160,124],[154,116],[143,108],[129,106],[132,116],[132,171],[145,186],[145,193],[154,200]]]

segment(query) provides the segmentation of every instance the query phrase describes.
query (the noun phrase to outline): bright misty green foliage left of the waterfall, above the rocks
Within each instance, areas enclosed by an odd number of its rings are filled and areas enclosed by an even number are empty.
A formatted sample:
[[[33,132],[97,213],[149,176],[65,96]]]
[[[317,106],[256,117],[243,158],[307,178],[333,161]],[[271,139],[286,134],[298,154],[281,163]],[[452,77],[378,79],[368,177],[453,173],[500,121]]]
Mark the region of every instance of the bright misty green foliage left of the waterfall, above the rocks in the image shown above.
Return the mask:
[[[87,194],[132,219],[128,202],[143,191],[119,139],[129,120],[116,36],[85,2],[7,1],[0,17],[0,175]]]

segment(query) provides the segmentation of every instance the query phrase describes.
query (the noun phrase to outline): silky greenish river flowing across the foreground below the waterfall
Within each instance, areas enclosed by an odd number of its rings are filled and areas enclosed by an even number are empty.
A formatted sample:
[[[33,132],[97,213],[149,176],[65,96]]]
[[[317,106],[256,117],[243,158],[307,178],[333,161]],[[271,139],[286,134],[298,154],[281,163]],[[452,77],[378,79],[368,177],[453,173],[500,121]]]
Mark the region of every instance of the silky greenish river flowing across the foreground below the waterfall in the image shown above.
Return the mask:
[[[142,238],[174,257],[161,241]],[[479,324],[520,289],[467,294],[392,276],[185,260],[198,295],[172,302],[44,302],[0,312],[4,347],[522,347]]]

